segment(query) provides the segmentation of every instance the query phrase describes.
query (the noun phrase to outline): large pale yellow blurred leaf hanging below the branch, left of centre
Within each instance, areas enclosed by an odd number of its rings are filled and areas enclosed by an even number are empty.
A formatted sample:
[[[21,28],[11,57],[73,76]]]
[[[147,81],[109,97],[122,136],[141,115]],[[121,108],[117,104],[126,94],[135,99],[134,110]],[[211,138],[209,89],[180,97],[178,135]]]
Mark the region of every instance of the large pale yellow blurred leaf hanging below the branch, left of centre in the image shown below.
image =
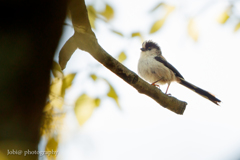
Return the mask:
[[[74,111],[80,125],[83,125],[91,117],[94,109],[100,104],[97,101],[86,94],[82,94],[77,99]]]

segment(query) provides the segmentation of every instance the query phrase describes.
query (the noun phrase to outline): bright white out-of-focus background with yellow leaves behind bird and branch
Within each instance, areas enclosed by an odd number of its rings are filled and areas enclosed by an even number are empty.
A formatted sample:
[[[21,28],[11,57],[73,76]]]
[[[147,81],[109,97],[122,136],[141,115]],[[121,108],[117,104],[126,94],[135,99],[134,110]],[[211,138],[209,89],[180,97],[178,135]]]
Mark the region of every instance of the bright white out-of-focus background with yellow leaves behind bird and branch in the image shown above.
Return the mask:
[[[184,114],[177,115],[139,94],[89,53],[76,50],[63,71],[76,75],[60,110],[64,116],[55,133],[57,159],[239,160],[240,2],[86,0],[86,4],[99,44],[130,70],[137,73],[143,40],[153,40],[187,81],[222,103],[216,106],[172,83],[169,93],[188,103]],[[67,18],[56,61],[73,33]],[[40,148],[46,143],[43,136]]]

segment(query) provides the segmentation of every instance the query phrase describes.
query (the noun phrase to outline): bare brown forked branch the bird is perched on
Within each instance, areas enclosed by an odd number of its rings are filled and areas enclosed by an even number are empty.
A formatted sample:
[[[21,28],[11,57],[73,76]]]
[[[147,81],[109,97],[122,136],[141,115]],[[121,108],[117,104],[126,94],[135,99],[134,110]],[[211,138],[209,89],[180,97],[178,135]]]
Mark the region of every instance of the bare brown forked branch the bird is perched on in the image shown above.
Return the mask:
[[[175,97],[168,96],[161,92],[160,89],[145,82],[136,73],[132,72],[127,67],[119,63],[116,59],[114,59],[111,55],[109,55],[98,44],[96,36],[91,30],[84,0],[71,0],[69,3],[69,10],[71,14],[76,14],[78,17],[72,16],[75,17],[72,19],[75,33],[65,43],[59,54],[59,64],[62,69],[65,68],[67,61],[72,56],[72,51],[75,51],[77,48],[79,48],[90,53],[98,62],[103,64],[106,68],[111,70],[129,85],[138,90],[139,93],[151,97],[161,106],[177,114],[184,113],[187,105],[186,102],[180,101]]]

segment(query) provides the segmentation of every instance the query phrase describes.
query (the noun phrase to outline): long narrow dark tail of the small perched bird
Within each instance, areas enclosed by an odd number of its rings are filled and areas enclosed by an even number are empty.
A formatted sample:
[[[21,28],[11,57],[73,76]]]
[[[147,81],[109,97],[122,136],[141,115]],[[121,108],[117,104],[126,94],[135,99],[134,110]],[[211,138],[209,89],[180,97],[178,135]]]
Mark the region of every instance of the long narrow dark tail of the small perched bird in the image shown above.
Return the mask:
[[[212,95],[211,93],[185,81],[183,78],[179,78],[180,79],[180,84],[191,89],[192,91],[196,92],[197,94],[203,96],[206,99],[209,99],[210,101],[212,101],[213,103],[215,103],[216,105],[219,105],[218,103],[220,103],[221,101],[219,99],[217,99],[214,95]]]

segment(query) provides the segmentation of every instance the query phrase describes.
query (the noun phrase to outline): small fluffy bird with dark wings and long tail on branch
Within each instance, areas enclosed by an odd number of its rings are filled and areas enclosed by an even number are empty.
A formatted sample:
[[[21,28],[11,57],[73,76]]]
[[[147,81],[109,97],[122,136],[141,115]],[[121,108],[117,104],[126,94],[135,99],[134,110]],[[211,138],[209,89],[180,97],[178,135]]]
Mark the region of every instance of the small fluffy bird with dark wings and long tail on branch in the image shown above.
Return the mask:
[[[178,70],[173,67],[163,56],[159,45],[151,40],[144,41],[141,48],[141,55],[138,61],[138,74],[154,86],[168,84],[165,94],[171,82],[176,81],[191,89],[216,105],[221,102],[211,93],[187,82]]]

